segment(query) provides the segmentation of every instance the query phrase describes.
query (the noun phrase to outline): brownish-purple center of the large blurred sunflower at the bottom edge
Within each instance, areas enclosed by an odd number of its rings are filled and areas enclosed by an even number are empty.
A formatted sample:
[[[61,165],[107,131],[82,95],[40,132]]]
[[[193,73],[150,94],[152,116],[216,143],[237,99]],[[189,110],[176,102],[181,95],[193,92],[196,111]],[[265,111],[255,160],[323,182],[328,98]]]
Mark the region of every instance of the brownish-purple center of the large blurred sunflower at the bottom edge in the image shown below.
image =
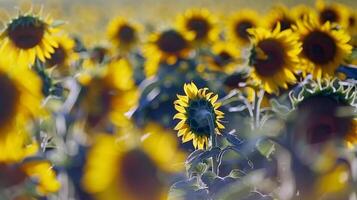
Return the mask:
[[[131,150],[123,155],[120,166],[120,182],[135,199],[158,199],[162,184],[155,163],[146,153]]]

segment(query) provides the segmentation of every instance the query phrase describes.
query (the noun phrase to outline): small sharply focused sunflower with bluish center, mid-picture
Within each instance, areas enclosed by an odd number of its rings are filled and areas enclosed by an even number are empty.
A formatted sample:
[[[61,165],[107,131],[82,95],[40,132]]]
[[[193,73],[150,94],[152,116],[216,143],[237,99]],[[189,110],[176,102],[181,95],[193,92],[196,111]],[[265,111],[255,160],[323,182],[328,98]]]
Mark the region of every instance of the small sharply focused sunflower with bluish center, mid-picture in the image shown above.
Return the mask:
[[[220,129],[224,129],[218,95],[208,92],[208,88],[197,89],[194,83],[185,84],[184,90],[185,95],[177,95],[178,100],[174,102],[178,111],[174,119],[181,120],[174,129],[182,136],[182,142],[192,140],[196,149],[208,148],[212,132],[220,134]]]

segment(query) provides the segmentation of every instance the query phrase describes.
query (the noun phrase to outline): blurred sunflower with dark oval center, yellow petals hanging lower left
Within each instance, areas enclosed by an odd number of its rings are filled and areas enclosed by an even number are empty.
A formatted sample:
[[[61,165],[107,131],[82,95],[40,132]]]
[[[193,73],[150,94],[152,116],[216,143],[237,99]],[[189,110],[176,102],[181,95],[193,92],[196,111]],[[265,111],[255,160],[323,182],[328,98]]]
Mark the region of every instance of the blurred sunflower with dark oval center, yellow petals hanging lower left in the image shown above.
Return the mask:
[[[187,58],[191,39],[191,34],[181,34],[173,29],[151,35],[144,47],[146,76],[155,75],[161,63],[173,65],[178,59]]]

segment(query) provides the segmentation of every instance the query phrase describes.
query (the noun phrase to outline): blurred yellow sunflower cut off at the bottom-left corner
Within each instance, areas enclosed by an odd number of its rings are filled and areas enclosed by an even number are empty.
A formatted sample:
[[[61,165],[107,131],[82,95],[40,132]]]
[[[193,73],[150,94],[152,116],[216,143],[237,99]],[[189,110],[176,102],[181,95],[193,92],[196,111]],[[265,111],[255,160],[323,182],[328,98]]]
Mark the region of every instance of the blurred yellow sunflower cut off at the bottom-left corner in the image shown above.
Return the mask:
[[[0,186],[2,188],[21,184],[30,179],[40,195],[59,190],[60,183],[47,160],[28,159],[38,152],[38,144],[31,140],[23,127],[0,136]],[[3,132],[2,132],[3,133]]]

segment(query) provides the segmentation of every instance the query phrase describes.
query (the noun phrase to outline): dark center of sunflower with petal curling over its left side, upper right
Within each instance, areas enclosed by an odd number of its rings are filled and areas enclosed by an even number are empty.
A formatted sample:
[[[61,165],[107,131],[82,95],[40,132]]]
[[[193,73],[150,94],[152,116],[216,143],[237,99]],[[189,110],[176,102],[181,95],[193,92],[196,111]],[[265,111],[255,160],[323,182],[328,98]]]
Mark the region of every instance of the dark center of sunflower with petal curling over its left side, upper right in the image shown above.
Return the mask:
[[[254,60],[254,67],[259,75],[272,76],[283,68],[285,52],[279,41],[266,39],[259,42],[257,48],[266,56],[265,58],[256,58]]]

